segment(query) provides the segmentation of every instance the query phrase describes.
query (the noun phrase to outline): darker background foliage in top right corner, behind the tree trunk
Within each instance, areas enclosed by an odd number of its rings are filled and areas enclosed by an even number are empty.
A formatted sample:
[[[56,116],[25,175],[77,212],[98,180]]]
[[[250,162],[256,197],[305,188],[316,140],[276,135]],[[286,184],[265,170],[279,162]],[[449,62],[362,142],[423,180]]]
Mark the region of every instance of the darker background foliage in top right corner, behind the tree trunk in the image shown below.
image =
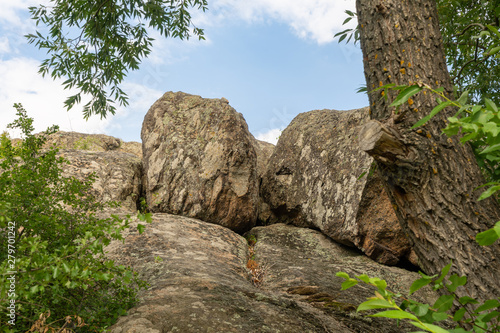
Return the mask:
[[[488,25],[500,27],[500,0],[438,0],[439,21],[453,84],[474,102],[500,103],[500,60]],[[498,45],[498,43],[496,43]]]

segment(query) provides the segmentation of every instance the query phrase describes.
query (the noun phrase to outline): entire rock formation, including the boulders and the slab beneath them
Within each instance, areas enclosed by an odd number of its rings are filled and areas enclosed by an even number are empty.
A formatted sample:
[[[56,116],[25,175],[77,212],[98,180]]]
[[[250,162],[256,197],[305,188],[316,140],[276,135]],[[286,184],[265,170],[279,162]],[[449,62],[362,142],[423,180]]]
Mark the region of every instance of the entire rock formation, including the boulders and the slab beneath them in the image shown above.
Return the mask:
[[[367,109],[304,113],[274,147],[255,140],[227,100],[166,93],[145,117],[142,147],[54,134],[49,144],[70,161],[65,175],[95,172],[97,199],[122,203],[106,214],[135,212],[141,196],[155,212],[143,234],[133,222],[124,243],[106,247],[150,284],[111,332],[413,331],[356,313],[374,290],[341,292],[336,276],[365,273],[403,295],[419,277],[339,244],[388,264],[409,253],[372,159],[357,148],[367,119]],[[254,227],[257,215],[268,225]]]

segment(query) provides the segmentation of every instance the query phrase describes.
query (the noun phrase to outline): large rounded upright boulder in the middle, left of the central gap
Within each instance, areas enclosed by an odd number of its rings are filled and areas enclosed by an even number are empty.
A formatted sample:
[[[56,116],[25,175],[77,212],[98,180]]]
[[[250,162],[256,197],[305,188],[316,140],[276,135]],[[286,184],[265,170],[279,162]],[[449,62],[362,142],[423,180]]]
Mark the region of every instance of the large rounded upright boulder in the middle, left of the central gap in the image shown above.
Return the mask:
[[[146,114],[141,138],[151,211],[195,217],[237,232],[255,225],[254,138],[226,99],[168,92]]]

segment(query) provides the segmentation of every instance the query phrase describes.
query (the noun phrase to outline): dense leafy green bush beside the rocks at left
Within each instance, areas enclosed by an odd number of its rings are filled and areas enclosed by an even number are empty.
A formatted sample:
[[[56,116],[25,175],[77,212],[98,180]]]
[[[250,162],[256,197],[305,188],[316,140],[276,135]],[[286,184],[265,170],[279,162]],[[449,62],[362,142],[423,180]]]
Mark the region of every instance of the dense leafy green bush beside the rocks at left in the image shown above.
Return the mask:
[[[33,135],[33,119],[15,107],[19,118],[9,127],[20,129],[24,140],[13,145],[4,134],[0,144],[1,331],[99,331],[125,314],[137,288],[145,287],[129,268],[104,257],[111,240],[123,239],[129,220],[100,218],[116,204],[96,202],[90,192],[94,177],[63,177],[67,161],[55,147],[42,150],[56,128]],[[11,327],[8,278],[16,280],[17,321]]]

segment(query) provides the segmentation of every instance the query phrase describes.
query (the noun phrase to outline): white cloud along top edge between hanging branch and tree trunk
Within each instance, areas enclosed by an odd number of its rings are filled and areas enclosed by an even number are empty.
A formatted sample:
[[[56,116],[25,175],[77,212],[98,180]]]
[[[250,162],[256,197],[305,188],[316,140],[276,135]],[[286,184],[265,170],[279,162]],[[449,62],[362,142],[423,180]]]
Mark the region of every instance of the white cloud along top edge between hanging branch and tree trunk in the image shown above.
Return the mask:
[[[209,9],[212,22],[278,20],[288,24],[299,37],[319,44],[333,41],[336,32],[356,25],[355,20],[351,20],[349,25],[342,26],[347,18],[345,10],[355,9],[354,0],[214,0]],[[209,23],[210,20],[201,18],[198,24]]]

